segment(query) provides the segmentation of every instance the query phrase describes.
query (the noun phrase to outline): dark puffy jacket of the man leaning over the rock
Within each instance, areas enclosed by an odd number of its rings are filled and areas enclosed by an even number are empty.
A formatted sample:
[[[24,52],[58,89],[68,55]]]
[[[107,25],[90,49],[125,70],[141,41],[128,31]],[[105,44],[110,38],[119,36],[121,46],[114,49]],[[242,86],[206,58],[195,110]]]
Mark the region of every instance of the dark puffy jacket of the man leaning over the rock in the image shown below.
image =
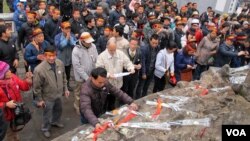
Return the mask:
[[[105,113],[105,102],[109,94],[114,95],[126,104],[133,102],[131,97],[111,85],[108,81],[105,82],[103,88],[97,88],[90,79],[82,85],[80,109],[82,115],[84,115],[91,125],[95,126],[99,122],[97,117]]]

